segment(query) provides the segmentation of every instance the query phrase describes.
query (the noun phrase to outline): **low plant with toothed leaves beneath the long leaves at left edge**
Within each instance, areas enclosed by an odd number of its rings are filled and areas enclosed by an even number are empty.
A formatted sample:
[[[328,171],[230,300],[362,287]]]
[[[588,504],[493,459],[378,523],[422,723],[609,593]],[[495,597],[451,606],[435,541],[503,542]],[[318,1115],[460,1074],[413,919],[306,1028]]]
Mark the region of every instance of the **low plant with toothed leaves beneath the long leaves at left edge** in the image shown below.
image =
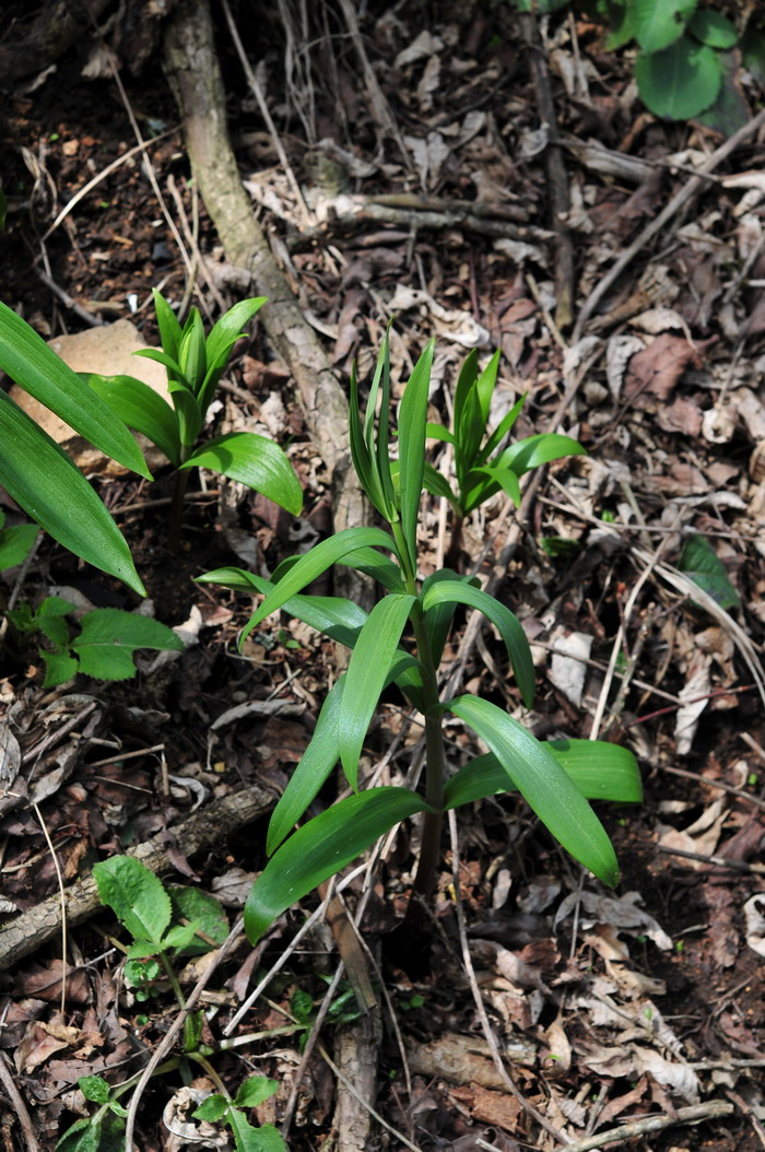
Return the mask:
[[[45,637],[47,643],[39,649],[46,668],[44,688],[63,684],[78,672],[94,680],[129,680],[136,674],[137,649],[183,652],[183,642],[166,624],[119,608],[86,612],[79,619],[79,634],[73,636],[67,616],[75,611],[69,600],[48,596],[38,608],[22,604],[6,613],[17,631]]]

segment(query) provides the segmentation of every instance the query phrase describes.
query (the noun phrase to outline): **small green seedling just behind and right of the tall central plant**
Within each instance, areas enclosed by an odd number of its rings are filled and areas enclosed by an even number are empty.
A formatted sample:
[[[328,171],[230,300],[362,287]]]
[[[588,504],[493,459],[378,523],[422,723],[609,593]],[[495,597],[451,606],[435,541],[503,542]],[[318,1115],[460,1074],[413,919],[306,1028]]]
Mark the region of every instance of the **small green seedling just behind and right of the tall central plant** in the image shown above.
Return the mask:
[[[445,497],[454,511],[452,544],[447,554],[447,563],[450,564],[455,564],[459,558],[465,516],[500,491],[516,506],[520,505],[518,482],[524,472],[562,456],[584,453],[581,444],[558,432],[545,432],[506,445],[505,441],[521,415],[525,396],[513,406],[493,432],[488,432],[499,355],[495,353],[483,372],[479,372],[478,354],[475,349],[470,353],[457,379],[452,429],[442,424],[429,424],[426,429],[429,437],[445,440],[454,449],[456,493],[449,482],[432,464],[425,462],[425,487],[432,495]],[[351,395],[355,395],[353,381]]]

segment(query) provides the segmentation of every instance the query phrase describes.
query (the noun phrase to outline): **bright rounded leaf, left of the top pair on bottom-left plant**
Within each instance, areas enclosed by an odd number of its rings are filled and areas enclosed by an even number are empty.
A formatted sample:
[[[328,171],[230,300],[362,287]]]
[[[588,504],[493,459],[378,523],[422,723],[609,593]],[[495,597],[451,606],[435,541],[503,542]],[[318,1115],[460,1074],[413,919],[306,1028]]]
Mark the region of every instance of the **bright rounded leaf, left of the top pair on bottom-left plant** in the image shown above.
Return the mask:
[[[93,865],[103,904],[136,940],[159,946],[171,923],[171,897],[161,880],[132,856],[113,856]]]

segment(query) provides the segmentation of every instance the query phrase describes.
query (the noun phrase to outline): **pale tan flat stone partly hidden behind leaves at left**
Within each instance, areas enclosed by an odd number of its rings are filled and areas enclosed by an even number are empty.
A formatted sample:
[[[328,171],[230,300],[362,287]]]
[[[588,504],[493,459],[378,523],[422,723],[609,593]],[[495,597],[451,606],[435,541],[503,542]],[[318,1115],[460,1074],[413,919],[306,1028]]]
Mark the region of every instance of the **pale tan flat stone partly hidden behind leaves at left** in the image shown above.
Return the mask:
[[[98,328],[88,328],[73,336],[56,336],[48,340],[48,347],[68,364],[74,372],[98,372],[100,376],[135,376],[153,388],[164,400],[172,403],[167,391],[165,369],[156,361],[132,353],[147,348],[141,333],[129,320],[116,320]],[[85,387],[85,385],[83,385]],[[84,472],[106,476],[124,476],[127,469],[115,463],[88,440],[77,435],[68,424],[52,412],[28,392],[14,385],[9,393],[20,408],[31,416]],[[167,463],[167,457],[145,437],[137,437],[141,450],[146,457],[150,471]]]

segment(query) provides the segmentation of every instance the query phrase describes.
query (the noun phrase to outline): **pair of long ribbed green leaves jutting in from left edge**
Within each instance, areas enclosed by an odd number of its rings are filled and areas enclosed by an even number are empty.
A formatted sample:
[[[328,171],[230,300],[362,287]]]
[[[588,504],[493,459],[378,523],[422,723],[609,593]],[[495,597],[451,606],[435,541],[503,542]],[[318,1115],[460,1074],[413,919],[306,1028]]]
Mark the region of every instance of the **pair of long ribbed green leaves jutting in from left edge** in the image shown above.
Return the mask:
[[[122,420],[33,328],[2,303],[0,369],[101,452],[151,479]],[[0,444],[0,484],[16,503],[65,548],[143,596],[130,550],[94,490],[70,457],[2,388]]]

